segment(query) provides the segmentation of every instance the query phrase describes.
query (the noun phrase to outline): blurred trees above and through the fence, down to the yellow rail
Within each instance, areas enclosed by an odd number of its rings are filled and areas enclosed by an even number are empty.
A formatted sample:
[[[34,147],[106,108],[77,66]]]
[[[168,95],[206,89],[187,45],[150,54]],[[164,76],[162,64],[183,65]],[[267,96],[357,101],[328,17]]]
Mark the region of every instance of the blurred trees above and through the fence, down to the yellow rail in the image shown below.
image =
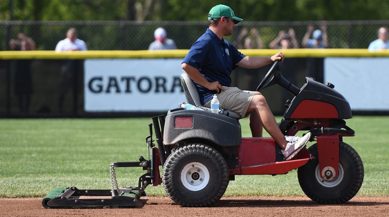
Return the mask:
[[[389,25],[389,0],[0,0],[0,37],[6,39],[0,50],[9,50],[7,41],[19,32],[32,37],[37,50],[53,50],[70,27],[90,50],[145,50],[158,27],[179,49],[189,49],[218,3],[244,19],[226,39],[257,28],[263,48],[289,28],[300,43],[307,25],[319,28],[323,20],[331,48],[367,48],[377,29]]]

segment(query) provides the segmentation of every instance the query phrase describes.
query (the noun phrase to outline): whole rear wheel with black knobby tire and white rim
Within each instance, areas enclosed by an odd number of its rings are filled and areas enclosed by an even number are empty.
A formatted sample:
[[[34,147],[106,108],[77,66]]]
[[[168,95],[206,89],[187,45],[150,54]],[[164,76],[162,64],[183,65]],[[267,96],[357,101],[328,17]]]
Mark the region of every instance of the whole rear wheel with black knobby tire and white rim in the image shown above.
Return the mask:
[[[212,147],[189,144],[166,159],[162,182],[168,196],[182,207],[209,207],[227,189],[228,168]]]

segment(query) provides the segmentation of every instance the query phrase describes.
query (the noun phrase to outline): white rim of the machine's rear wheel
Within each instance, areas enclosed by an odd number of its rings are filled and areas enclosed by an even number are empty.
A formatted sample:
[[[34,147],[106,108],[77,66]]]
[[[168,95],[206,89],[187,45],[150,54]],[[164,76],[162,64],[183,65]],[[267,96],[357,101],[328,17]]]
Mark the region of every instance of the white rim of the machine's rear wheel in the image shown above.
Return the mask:
[[[209,182],[209,171],[202,163],[188,163],[181,170],[181,182],[191,191],[200,191]]]

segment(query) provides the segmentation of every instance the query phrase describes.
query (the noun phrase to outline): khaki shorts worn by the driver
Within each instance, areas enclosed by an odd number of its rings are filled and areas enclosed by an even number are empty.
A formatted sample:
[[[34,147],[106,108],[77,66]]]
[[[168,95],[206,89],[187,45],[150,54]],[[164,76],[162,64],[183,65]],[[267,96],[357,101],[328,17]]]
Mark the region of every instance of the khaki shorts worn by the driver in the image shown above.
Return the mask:
[[[246,114],[247,109],[255,94],[252,94],[251,91],[242,91],[238,87],[223,86],[223,88],[226,89],[226,91],[221,91],[221,93],[216,94],[220,103],[220,108],[233,110],[234,112],[239,113],[242,118],[247,117],[249,115]],[[204,106],[210,108],[211,100],[207,101]]]

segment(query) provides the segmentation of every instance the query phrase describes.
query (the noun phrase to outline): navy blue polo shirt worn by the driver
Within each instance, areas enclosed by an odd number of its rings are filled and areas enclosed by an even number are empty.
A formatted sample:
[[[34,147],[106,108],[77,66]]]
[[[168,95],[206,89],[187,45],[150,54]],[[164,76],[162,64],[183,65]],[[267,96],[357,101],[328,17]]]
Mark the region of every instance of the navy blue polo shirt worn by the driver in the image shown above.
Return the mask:
[[[182,63],[197,68],[209,82],[219,81],[222,86],[230,87],[230,74],[237,67],[236,64],[245,56],[230,42],[224,39],[220,40],[208,28],[192,45]],[[203,105],[217,93],[215,90],[209,90],[196,82],[195,84]]]

